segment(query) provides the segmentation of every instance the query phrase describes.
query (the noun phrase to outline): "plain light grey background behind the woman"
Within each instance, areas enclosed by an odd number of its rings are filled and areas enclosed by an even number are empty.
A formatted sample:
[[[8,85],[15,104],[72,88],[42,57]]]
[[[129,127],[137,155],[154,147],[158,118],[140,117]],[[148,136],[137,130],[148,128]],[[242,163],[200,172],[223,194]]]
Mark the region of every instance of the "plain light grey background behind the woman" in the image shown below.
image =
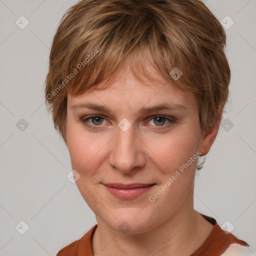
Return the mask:
[[[55,255],[95,223],[68,150],[46,112],[43,84],[59,20],[76,0],[0,0],[0,255]],[[194,207],[228,220],[256,255],[255,0],[207,0],[226,29],[230,96],[217,138],[195,177]],[[29,24],[20,29],[21,16]],[[17,126],[25,119],[28,127]],[[230,120],[227,120],[227,118]],[[16,123],[19,123],[16,126]],[[21,122],[21,124],[20,124]],[[233,127],[231,127],[233,124]],[[229,130],[227,130],[229,129]],[[23,220],[29,229],[16,225]]]

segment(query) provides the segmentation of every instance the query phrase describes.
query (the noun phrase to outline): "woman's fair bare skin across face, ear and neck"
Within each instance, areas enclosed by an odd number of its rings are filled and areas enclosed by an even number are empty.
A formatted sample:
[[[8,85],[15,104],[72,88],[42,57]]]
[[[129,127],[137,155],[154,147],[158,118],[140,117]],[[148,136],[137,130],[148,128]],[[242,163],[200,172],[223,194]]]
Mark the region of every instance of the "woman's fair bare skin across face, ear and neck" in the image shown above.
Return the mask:
[[[196,151],[201,156],[207,154],[219,127],[218,120],[201,133],[193,94],[167,83],[157,70],[148,68],[156,81],[141,83],[124,65],[107,88],[67,96],[66,143],[72,168],[80,175],[77,187],[96,215],[92,248],[99,256],[190,255],[213,229],[193,209],[196,161],[154,202],[148,200]],[[83,102],[105,105],[109,112],[71,107]],[[142,106],[163,102],[186,109],[138,113]],[[94,129],[81,121],[90,115],[103,117],[85,122]],[[152,115],[176,121],[157,121]],[[118,127],[123,118],[131,124],[126,131]],[[156,185],[137,198],[119,199],[108,192],[102,184],[106,182]],[[123,221],[129,225],[127,233],[118,228]]]

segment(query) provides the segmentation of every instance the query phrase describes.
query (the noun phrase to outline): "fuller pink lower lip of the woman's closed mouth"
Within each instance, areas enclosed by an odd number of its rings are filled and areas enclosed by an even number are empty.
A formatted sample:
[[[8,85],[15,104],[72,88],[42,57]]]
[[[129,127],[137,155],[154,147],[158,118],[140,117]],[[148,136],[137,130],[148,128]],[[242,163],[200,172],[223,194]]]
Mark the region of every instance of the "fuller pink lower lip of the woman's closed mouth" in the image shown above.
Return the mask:
[[[106,189],[113,195],[117,196],[120,199],[133,199],[138,197],[139,195],[147,192],[148,190],[150,190],[153,185],[150,186],[146,186],[146,187],[137,187],[137,188],[127,188],[127,189],[119,189],[119,188],[115,188],[115,187],[109,187],[106,186]]]

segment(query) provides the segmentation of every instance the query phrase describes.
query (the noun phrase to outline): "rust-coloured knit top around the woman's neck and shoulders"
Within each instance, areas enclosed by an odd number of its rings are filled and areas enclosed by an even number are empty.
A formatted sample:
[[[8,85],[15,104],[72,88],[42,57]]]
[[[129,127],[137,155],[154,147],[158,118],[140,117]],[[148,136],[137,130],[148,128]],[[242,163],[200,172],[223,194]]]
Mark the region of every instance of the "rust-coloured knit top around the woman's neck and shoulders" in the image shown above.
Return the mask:
[[[224,232],[214,218],[205,215],[203,215],[203,217],[211,222],[214,227],[204,243],[191,256],[220,256],[223,253],[223,256],[252,255],[240,249],[241,247],[248,246],[245,241],[237,239],[231,233]],[[84,234],[81,239],[62,248],[56,256],[93,256],[91,240],[96,227],[97,224]],[[229,246],[230,244],[237,245],[238,248]]]

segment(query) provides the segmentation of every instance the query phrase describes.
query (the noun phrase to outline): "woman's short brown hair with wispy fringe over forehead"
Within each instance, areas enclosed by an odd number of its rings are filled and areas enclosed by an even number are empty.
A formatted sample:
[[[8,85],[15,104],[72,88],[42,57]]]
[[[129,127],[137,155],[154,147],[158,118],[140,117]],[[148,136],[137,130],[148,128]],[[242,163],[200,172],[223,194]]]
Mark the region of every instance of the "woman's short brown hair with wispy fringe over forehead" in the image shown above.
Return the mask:
[[[225,43],[220,22],[199,0],[80,0],[63,15],[50,51],[45,102],[54,127],[66,142],[67,93],[96,88],[126,60],[136,78],[150,77],[150,56],[168,81],[194,93],[205,131],[228,96]]]

